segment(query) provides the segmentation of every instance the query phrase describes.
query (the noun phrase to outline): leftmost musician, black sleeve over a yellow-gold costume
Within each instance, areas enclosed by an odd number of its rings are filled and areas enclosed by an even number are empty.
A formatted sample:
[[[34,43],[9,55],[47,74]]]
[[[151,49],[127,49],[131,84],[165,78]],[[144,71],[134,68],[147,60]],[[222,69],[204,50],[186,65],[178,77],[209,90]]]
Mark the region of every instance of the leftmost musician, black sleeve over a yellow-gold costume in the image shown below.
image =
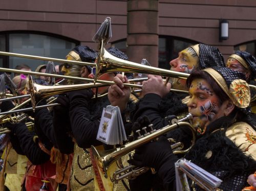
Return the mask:
[[[15,83],[20,95],[29,93],[28,78],[25,75],[22,74],[15,76],[13,78],[13,82]],[[27,98],[21,99],[20,103],[23,103],[25,100],[27,100]],[[2,111],[8,111],[13,107],[14,105],[11,101],[3,102],[1,104]],[[38,161],[44,163],[49,160],[49,156],[39,148],[37,142],[33,139],[35,134],[29,132],[24,122],[18,124],[7,123],[6,127],[11,130],[11,133],[9,134],[11,145],[8,144],[8,147],[6,147],[5,150],[5,172],[7,173],[5,185],[11,190],[20,190],[20,185],[22,185],[22,180],[26,173],[25,168],[28,159],[34,164],[38,164]],[[15,163],[16,165],[14,165]],[[13,181],[18,183],[16,188]],[[26,182],[27,181],[28,179]]]

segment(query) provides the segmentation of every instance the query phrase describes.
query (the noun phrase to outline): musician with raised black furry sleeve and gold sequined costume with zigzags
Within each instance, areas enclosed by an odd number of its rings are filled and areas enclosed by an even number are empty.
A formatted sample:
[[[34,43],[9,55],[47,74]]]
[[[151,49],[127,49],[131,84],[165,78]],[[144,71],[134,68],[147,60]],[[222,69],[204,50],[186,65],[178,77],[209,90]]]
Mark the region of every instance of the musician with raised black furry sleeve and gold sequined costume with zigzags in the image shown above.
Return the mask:
[[[127,60],[127,56],[120,50],[111,47],[107,50],[113,56]],[[114,73],[107,73],[100,76],[100,80],[112,81]],[[93,74],[89,75],[93,78]],[[120,182],[113,186],[109,179],[100,177],[99,170],[95,163],[92,164],[90,155],[91,145],[102,147],[102,142],[96,139],[102,110],[110,105],[108,97],[92,99],[94,93],[105,93],[109,87],[84,89],[67,93],[69,99],[69,116],[73,137],[76,141],[74,148],[74,159],[72,162],[71,189],[74,190],[97,190],[105,187],[106,190],[123,190],[127,186]],[[103,148],[102,148],[103,149]],[[95,173],[96,171],[96,173]],[[96,174],[96,176],[95,176]],[[126,189],[125,189],[126,190]]]

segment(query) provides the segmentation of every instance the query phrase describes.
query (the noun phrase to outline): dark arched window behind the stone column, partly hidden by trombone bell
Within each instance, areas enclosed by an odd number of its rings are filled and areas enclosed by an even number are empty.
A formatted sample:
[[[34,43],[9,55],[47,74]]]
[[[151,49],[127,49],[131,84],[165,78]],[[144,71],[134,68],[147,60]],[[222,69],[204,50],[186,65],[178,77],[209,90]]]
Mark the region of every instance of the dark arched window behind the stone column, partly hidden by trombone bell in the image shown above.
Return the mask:
[[[186,49],[189,45],[197,44],[199,42],[177,38],[172,36],[159,36],[158,45],[158,67],[169,69],[169,61],[178,57],[180,51]],[[122,39],[112,43],[117,49],[126,53],[126,39]]]

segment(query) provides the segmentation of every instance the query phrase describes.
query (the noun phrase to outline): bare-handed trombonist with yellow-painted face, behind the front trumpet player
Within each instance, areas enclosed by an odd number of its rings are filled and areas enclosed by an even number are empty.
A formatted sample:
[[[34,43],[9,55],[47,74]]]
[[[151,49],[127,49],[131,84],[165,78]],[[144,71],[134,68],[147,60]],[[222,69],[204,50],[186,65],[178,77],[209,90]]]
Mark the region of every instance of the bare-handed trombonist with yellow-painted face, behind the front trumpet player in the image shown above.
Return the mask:
[[[170,61],[170,70],[179,71],[190,74],[195,69],[204,69],[211,66],[224,66],[222,54],[216,47],[207,44],[195,44],[187,47],[179,53],[178,58]],[[143,98],[138,102],[134,112],[131,114],[133,122],[140,121],[141,116],[146,115],[155,129],[169,125],[173,115],[183,118],[187,115],[186,102],[188,101],[187,93],[170,92],[170,84],[165,86],[160,76],[148,75],[150,80],[143,82],[142,94]],[[116,85],[112,85],[109,94],[117,95],[113,100],[120,100],[126,95],[126,89],[122,86],[123,77],[115,77]],[[173,78],[170,80],[172,88],[188,90],[186,80]],[[162,92],[163,91],[163,92]],[[155,93],[157,92],[157,93]],[[129,96],[126,96],[127,98]],[[124,101],[125,103],[125,101]],[[143,121],[140,121],[143,123]],[[143,126],[144,124],[141,124]],[[143,126],[144,127],[144,126]],[[172,135],[174,137],[174,135]],[[150,172],[138,176],[134,180],[130,180],[131,190],[151,190],[161,189],[158,186],[159,180],[153,180],[154,175]],[[142,182],[146,182],[145,184]],[[150,182],[150,183],[148,183]],[[148,187],[145,188],[145,185]],[[161,186],[160,186],[161,187]]]

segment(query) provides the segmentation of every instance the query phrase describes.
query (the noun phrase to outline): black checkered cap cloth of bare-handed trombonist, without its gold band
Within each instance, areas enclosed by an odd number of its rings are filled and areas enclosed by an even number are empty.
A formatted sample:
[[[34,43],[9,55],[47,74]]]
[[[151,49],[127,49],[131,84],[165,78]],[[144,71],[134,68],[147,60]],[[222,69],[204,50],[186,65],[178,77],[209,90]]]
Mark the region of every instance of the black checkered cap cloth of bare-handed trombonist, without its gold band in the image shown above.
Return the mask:
[[[207,44],[199,44],[199,65],[200,69],[214,66],[225,66],[224,58],[219,49]]]

